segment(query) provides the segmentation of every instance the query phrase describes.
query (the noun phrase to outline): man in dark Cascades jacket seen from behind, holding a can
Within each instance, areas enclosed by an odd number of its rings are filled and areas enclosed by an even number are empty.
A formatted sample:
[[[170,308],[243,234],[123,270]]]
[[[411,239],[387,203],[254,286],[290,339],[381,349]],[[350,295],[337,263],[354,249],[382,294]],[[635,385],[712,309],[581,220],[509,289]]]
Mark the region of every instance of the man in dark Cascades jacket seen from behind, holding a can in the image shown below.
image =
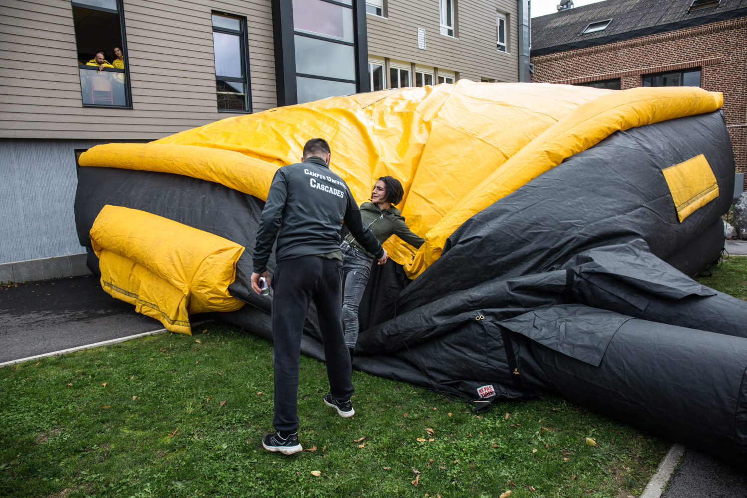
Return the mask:
[[[355,414],[350,403],[352,366],[342,326],[342,220],[379,264],[388,258],[363,224],[347,184],[329,170],[329,158],[326,140],[312,138],[303,147],[303,163],[277,170],[254,247],[252,289],[260,293],[260,278],[270,284],[267,260],[277,236],[272,311],[276,432],[264,436],[262,446],[285,455],[303,450],[298,442],[298,365],[311,299],[317,307],[329,379],[323,401],[341,417]]]

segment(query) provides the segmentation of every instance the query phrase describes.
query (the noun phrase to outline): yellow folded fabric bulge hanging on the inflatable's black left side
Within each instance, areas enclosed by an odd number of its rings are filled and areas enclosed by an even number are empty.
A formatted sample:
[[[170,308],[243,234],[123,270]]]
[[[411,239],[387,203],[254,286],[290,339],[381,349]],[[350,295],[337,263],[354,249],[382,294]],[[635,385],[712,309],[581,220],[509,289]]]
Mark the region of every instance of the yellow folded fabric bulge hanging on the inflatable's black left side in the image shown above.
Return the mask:
[[[190,334],[189,314],[235,311],[229,294],[244,247],[137,209],[105,205],[90,231],[102,287],[171,332]]]

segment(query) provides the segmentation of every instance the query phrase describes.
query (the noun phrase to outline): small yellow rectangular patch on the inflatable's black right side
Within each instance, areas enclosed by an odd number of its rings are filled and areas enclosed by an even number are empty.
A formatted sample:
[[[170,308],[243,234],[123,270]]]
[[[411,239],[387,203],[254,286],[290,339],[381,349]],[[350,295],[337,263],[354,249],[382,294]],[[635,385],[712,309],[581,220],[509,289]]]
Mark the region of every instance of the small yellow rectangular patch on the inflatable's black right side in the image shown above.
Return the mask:
[[[680,222],[719,196],[719,184],[704,155],[663,169]]]

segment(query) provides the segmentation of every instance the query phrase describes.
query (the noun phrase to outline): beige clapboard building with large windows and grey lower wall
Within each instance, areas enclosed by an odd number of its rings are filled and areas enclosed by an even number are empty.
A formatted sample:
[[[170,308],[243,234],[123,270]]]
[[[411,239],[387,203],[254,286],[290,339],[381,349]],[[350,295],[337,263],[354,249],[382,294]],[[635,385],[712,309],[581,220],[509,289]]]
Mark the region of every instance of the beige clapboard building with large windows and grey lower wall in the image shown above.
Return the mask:
[[[376,81],[528,81],[528,3],[0,2],[0,282],[87,272],[72,213],[81,151]]]

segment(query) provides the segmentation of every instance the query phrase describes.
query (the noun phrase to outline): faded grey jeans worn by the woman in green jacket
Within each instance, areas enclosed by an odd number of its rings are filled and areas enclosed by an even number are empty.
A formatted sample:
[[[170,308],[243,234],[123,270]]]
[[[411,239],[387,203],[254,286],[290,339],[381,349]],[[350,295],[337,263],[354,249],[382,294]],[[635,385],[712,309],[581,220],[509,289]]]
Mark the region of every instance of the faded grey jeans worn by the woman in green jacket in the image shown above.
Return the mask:
[[[373,260],[359,249],[343,242],[340,244],[342,252],[342,268],[345,273],[345,287],[342,299],[342,323],[345,327],[345,344],[349,348],[356,346],[358,341],[358,307],[366,290],[368,277],[371,276]]]

